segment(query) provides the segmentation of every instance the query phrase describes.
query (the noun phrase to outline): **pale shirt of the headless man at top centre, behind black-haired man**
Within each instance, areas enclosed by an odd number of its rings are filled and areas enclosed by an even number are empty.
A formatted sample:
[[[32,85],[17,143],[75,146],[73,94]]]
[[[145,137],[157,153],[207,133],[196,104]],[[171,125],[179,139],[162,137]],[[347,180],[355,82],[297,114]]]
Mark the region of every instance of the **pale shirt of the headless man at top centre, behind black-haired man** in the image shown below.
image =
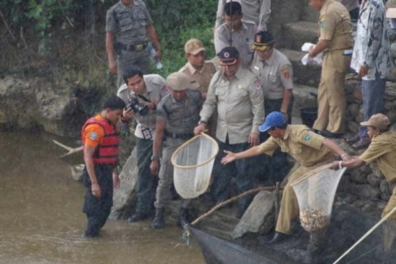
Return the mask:
[[[216,25],[218,28],[223,23],[224,6],[230,0],[219,0],[217,5]],[[271,0],[233,0],[242,6],[243,19],[254,22],[257,30],[267,30],[267,22],[271,14]]]

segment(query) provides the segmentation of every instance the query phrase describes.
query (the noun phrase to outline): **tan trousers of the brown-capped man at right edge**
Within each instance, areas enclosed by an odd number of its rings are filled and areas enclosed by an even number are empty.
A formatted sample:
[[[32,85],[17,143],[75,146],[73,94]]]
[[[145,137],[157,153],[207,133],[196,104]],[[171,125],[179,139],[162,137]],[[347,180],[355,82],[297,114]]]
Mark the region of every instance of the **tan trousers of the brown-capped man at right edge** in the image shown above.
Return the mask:
[[[396,187],[393,189],[392,196],[389,199],[388,205],[382,211],[381,217],[384,218],[392,209],[396,207]],[[384,230],[384,252],[386,254],[390,254],[395,252],[395,233],[396,233],[396,212],[394,212],[388,218],[389,221],[392,221],[390,224],[387,222],[383,223]]]

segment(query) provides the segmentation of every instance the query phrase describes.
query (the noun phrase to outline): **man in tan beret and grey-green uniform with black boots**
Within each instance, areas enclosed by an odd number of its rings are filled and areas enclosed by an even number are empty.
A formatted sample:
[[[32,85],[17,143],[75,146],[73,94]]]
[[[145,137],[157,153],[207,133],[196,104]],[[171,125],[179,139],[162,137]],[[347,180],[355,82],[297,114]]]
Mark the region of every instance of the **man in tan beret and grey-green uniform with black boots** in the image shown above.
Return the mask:
[[[165,96],[158,104],[156,131],[150,170],[158,175],[159,182],[155,195],[155,218],[150,228],[163,228],[164,211],[170,199],[170,187],[173,183],[173,165],[171,157],[183,143],[194,136],[194,127],[199,121],[202,96],[197,90],[197,83],[182,72],[175,72],[166,79],[171,94]],[[193,89],[188,89],[193,88]],[[162,145],[161,166],[159,166],[159,149]],[[183,199],[180,205],[177,224],[188,221],[190,199]]]

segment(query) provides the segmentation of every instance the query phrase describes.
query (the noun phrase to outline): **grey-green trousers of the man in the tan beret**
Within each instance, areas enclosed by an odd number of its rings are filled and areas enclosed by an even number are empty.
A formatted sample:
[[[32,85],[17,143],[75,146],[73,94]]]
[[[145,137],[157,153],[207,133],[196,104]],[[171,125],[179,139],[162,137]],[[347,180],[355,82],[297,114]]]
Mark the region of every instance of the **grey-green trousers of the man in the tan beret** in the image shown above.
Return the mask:
[[[164,208],[170,200],[170,187],[173,183],[173,165],[171,158],[173,153],[179,148],[185,139],[175,139],[167,137],[163,143],[162,158],[160,160],[161,167],[159,168],[159,181],[157,191],[155,194],[156,201],[154,202],[155,208]],[[182,199],[180,206],[182,208],[188,208],[191,199]]]

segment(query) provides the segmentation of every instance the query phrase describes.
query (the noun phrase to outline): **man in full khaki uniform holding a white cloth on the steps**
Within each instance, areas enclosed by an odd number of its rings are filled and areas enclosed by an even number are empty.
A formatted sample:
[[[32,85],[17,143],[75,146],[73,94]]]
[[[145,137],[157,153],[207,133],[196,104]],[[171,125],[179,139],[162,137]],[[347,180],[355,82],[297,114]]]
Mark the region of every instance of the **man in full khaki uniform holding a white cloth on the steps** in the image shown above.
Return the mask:
[[[345,73],[351,59],[352,28],[347,8],[335,0],[309,0],[320,11],[320,37],[309,55],[323,52],[322,75],[318,88],[318,118],[313,129],[325,137],[345,133]]]

